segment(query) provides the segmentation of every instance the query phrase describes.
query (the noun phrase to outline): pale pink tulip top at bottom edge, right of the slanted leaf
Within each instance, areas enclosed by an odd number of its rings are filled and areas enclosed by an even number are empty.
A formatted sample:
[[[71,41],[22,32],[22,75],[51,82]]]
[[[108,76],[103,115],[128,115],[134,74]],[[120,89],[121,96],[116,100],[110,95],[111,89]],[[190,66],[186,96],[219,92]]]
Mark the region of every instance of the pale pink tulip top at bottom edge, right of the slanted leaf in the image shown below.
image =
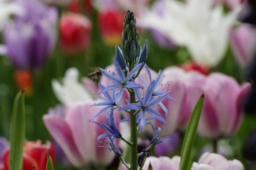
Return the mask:
[[[244,170],[244,166],[239,160],[227,160],[220,154],[205,152],[198,163],[193,163],[191,170]]]

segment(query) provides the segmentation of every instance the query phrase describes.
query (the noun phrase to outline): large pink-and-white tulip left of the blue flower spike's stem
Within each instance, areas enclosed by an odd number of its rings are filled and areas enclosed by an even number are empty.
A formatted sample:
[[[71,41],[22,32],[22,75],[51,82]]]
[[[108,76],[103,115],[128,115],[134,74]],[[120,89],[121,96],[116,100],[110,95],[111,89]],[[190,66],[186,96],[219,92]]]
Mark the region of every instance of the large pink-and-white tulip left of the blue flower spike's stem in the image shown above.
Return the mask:
[[[69,162],[78,168],[99,169],[106,167],[115,157],[113,152],[97,146],[109,146],[97,137],[106,131],[99,125],[89,122],[102,107],[90,107],[92,102],[67,106],[65,116],[56,114],[44,115],[43,120],[47,130],[60,145]],[[116,122],[118,114],[114,113]],[[119,119],[120,120],[120,119]],[[95,122],[106,123],[105,114],[93,119]]]

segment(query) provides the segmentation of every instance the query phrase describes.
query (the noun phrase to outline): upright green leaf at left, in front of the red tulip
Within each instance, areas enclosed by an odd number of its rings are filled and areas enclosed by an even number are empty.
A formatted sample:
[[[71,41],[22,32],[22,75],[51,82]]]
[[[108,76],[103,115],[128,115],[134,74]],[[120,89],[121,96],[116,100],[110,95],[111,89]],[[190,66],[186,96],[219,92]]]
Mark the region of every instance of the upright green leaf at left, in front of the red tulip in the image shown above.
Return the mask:
[[[23,165],[23,145],[25,140],[25,91],[19,92],[12,108],[10,130],[9,170],[21,170]]]

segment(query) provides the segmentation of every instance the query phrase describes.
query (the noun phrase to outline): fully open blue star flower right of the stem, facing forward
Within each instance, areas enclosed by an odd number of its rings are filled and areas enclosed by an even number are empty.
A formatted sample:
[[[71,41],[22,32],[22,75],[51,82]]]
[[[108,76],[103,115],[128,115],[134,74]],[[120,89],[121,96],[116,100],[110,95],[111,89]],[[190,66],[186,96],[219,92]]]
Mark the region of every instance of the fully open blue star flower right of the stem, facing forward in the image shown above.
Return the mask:
[[[133,89],[137,96],[139,103],[129,103],[129,104],[119,108],[119,110],[141,110],[140,132],[139,133],[141,133],[144,128],[144,124],[146,121],[146,111],[166,125],[166,121],[162,117],[162,115],[158,111],[154,110],[153,108],[156,106],[157,103],[164,100],[164,98],[166,96],[168,96],[170,92],[164,93],[163,95],[160,95],[160,96],[154,98],[153,100],[151,100],[154,87],[155,87],[155,80],[153,80],[149,84],[148,89],[146,90],[146,92],[143,95],[143,98],[140,96],[140,92],[138,89]]]

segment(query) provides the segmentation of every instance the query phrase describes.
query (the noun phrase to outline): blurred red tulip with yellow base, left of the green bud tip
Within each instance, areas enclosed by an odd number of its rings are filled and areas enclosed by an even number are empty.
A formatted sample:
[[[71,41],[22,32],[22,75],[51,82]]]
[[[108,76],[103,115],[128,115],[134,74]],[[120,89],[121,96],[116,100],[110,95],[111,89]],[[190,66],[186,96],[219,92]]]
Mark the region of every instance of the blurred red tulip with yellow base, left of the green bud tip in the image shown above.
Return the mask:
[[[123,11],[109,10],[99,12],[99,29],[101,36],[108,46],[121,45],[121,35],[124,23]]]

